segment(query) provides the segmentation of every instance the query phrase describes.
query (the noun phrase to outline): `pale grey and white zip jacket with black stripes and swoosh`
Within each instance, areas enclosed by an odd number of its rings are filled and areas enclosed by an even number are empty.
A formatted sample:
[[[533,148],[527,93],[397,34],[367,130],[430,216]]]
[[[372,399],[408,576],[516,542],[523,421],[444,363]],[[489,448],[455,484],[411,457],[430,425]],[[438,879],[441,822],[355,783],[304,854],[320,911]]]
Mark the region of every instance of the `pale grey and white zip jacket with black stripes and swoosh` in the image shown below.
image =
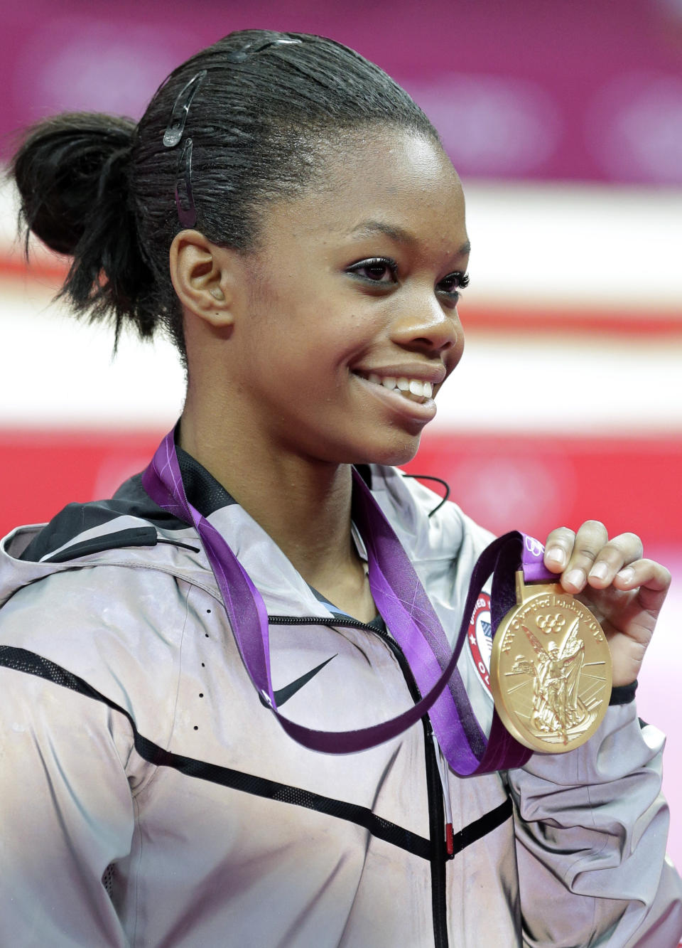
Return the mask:
[[[348,730],[415,687],[386,630],[331,611],[188,455],[188,499],[271,618],[278,704]],[[490,536],[393,468],[368,469],[452,638]],[[673,948],[663,738],[634,703],[583,748],[449,775],[428,720],[361,754],[308,751],[242,665],[193,528],[139,478],[0,552],[0,945],[11,948]],[[482,726],[492,702],[465,648]]]

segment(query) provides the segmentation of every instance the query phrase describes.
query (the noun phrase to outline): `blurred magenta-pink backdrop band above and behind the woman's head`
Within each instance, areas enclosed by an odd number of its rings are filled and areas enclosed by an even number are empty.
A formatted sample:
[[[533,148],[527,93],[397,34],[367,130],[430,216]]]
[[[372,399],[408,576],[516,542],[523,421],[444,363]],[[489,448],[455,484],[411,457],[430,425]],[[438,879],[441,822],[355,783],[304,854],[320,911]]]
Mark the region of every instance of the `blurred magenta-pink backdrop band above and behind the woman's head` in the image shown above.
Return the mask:
[[[25,0],[3,10],[0,136],[63,109],[139,116],[171,67],[244,27],[358,49],[462,175],[682,182],[680,0]]]

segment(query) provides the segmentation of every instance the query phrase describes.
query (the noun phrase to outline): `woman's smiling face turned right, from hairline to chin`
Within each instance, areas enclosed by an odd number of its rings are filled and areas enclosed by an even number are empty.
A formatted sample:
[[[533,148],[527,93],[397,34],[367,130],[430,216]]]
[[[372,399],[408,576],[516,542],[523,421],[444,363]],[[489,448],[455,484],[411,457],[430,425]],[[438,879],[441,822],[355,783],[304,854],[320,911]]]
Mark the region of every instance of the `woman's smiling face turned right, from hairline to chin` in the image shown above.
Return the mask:
[[[270,450],[403,464],[462,352],[464,198],[422,137],[346,141],[322,190],[265,211],[227,385]]]

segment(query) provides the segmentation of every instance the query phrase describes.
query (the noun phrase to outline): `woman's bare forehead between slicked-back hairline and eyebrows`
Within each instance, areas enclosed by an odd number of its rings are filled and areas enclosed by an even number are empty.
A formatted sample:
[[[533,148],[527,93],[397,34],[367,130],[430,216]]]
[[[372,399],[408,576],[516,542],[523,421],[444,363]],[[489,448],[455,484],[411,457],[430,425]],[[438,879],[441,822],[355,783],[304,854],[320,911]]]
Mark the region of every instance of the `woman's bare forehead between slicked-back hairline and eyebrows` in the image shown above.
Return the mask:
[[[360,241],[409,233],[426,250],[466,243],[464,195],[440,145],[404,131],[354,134],[327,146],[314,186],[266,213],[262,236]],[[377,228],[376,225],[382,227]]]

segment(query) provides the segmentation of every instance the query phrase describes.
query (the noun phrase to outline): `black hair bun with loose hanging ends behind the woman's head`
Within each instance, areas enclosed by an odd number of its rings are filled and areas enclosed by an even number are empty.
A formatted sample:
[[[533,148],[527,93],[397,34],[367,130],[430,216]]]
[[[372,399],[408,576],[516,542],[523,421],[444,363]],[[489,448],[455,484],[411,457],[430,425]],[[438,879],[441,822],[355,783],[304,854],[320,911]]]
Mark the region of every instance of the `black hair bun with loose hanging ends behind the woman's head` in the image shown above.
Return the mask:
[[[153,274],[140,252],[129,182],[135,129],[132,118],[46,118],[11,165],[27,229],[74,258],[58,298],[79,316],[113,319],[116,341],[126,321],[141,337],[155,325]]]

